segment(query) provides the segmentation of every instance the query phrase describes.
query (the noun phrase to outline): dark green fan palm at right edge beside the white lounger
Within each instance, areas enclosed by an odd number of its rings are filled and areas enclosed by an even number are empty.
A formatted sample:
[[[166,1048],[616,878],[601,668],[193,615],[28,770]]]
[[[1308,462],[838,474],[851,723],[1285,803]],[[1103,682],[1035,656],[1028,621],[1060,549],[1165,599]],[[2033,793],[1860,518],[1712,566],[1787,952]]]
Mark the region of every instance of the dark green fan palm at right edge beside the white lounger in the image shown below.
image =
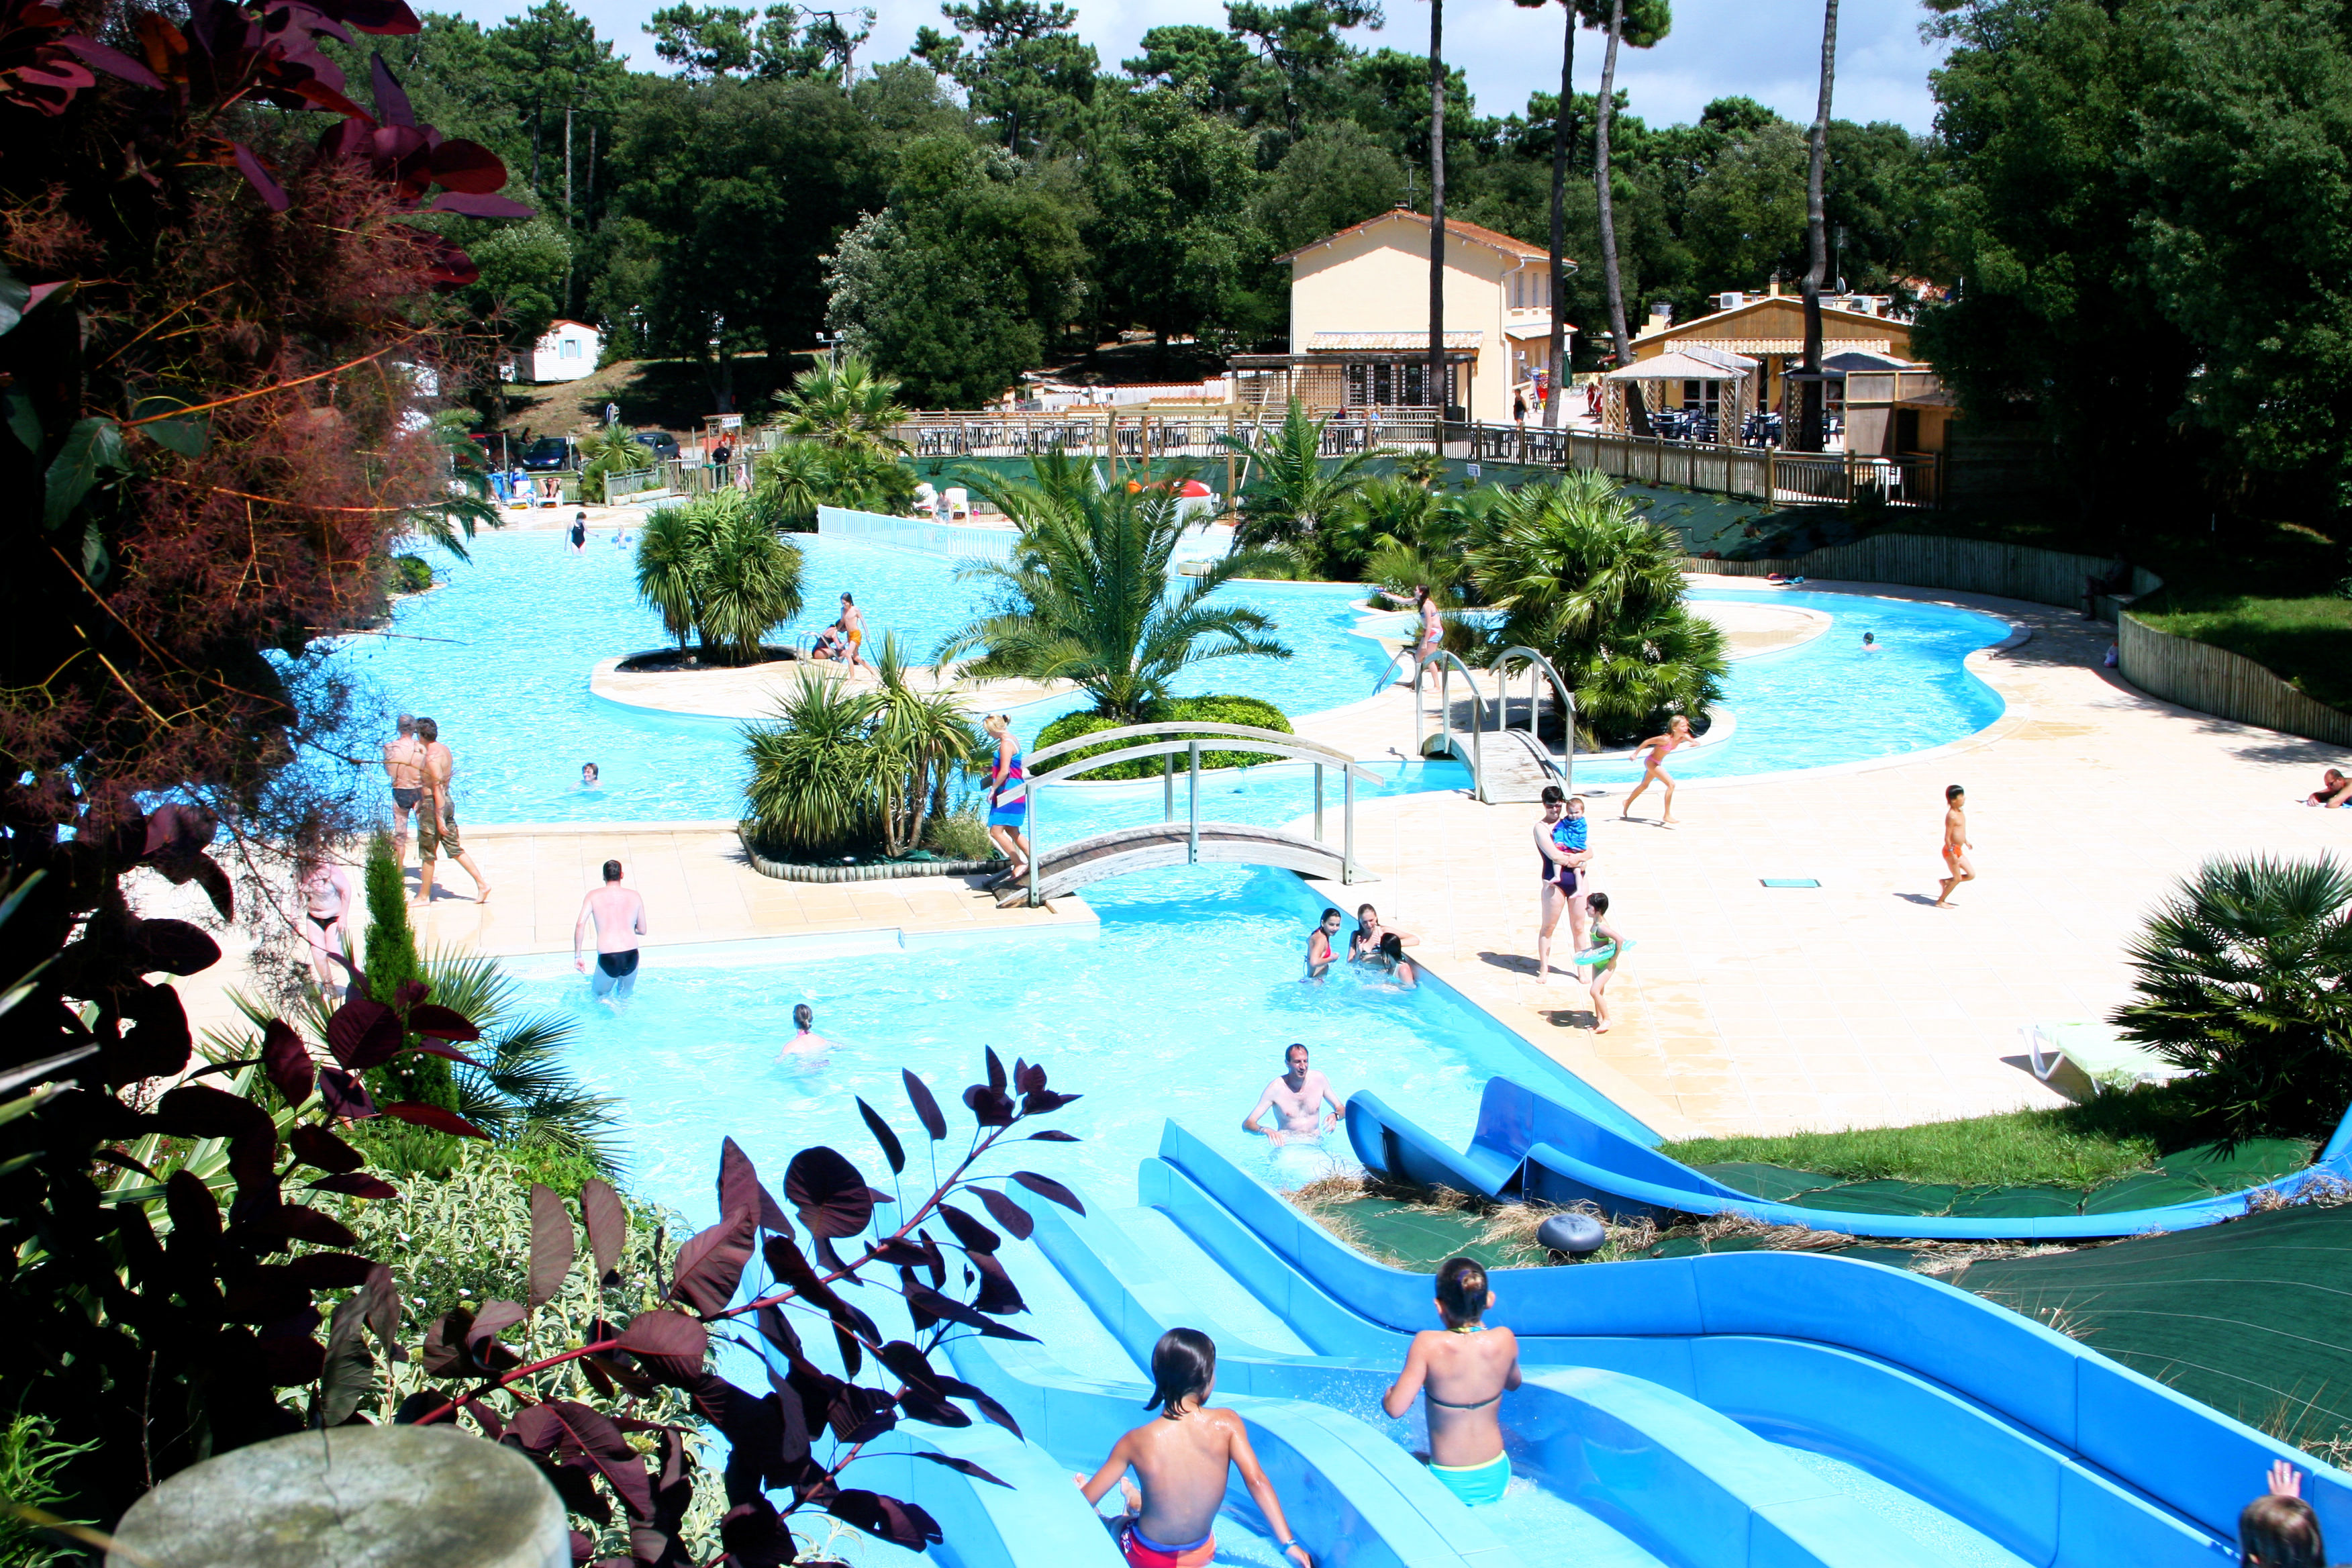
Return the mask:
[[[2124,1034],[2194,1077],[2178,1093],[2225,1143],[2326,1138],[2352,1103],[2352,867],[2209,860],[2131,945]]]

